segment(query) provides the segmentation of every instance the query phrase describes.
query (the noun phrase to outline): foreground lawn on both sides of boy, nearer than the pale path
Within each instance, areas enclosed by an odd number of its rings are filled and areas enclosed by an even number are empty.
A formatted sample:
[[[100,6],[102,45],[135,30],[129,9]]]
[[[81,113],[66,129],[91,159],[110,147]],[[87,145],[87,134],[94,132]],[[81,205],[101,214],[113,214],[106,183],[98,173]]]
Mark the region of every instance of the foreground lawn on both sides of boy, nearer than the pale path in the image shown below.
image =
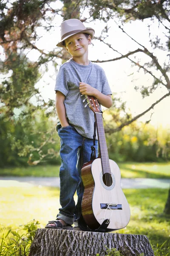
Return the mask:
[[[166,252],[170,244],[170,216],[163,215],[167,189],[123,189],[130,204],[130,222],[118,233],[147,235],[154,250]],[[0,237],[7,230],[17,230],[32,219],[44,227],[54,220],[59,208],[59,189],[51,187],[0,188]],[[22,231],[23,232],[23,231]],[[168,251],[167,251],[168,253]],[[166,255],[166,254],[160,254]]]

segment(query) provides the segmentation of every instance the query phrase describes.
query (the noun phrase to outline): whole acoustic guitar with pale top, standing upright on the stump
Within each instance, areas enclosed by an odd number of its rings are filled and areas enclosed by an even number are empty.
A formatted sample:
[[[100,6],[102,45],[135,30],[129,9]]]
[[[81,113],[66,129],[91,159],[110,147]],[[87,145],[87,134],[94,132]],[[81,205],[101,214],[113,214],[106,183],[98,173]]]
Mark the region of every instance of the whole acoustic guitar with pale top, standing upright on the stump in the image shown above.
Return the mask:
[[[94,96],[85,95],[87,104],[94,112],[99,141],[99,157],[82,166],[84,194],[82,216],[92,230],[104,222],[105,232],[119,230],[130,220],[130,207],[120,185],[120,169],[108,157],[102,111]]]

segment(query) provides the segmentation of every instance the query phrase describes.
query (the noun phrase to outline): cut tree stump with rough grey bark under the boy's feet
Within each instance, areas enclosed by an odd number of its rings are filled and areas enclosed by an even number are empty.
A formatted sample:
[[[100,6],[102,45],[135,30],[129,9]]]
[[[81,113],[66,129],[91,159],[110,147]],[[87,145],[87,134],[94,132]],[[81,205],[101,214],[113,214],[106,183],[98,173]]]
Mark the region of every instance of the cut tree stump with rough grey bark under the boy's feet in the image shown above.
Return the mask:
[[[144,235],[58,229],[38,229],[29,256],[105,256],[107,248],[116,248],[125,256],[154,256]]]

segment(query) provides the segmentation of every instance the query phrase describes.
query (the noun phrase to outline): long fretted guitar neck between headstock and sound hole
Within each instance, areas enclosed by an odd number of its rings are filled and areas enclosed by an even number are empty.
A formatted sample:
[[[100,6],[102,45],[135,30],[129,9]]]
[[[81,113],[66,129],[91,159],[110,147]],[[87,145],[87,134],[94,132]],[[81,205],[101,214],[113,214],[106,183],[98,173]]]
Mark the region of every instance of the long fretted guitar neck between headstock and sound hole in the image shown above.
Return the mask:
[[[103,174],[111,173],[110,164],[109,164],[109,156],[108,156],[108,148],[106,144],[105,130],[103,125],[102,113],[95,113],[96,127],[97,127],[97,135],[99,140],[99,150],[100,156],[102,160],[102,170]]]

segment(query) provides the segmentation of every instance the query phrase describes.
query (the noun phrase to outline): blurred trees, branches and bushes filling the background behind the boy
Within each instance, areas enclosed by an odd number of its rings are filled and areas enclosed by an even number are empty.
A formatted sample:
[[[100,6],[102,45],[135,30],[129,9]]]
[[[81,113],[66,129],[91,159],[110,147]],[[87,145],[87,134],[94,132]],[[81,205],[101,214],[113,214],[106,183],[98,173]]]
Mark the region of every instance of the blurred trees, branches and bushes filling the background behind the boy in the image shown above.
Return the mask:
[[[59,137],[55,131],[57,115],[54,100],[42,98],[36,84],[49,70],[49,64],[58,69],[58,60],[70,56],[59,48],[44,50],[36,45],[40,39],[38,28],[50,32],[55,29],[52,21],[56,15],[63,20],[80,18],[82,22],[102,20],[105,29],[94,40],[113,50],[113,60],[127,58],[139,71],[152,78],[149,86],[136,86],[142,97],[148,97],[157,88],[164,87],[166,94],[150,105],[146,111],[132,116],[122,102],[113,94],[113,107],[104,113],[104,125],[109,156],[116,161],[168,161],[170,160],[170,129],[154,128],[150,120],[137,119],[153,109],[156,104],[170,96],[170,2],[168,0],[61,0],[61,8],[54,8],[55,0],[0,0],[0,44],[4,59],[0,60],[0,167],[60,163]],[[89,17],[83,16],[88,9]],[[111,47],[108,37],[108,21],[119,19],[119,29],[125,33],[124,24],[131,20],[158,21],[164,28],[164,37],[152,35],[150,49],[136,42],[138,48],[121,54]],[[127,35],[127,37],[130,37]],[[133,38],[131,38],[134,41]],[[164,63],[160,64],[156,49],[166,51]],[[31,61],[28,53],[39,52],[37,61]],[[142,54],[142,55],[138,55]],[[142,61],[141,56],[147,60]],[[117,58],[115,58],[117,57]],[[131,57],[131,59],[130,59]],[[96,60],[107,62],[111,60]],[[32,99],[36,99],[33,103]]]

